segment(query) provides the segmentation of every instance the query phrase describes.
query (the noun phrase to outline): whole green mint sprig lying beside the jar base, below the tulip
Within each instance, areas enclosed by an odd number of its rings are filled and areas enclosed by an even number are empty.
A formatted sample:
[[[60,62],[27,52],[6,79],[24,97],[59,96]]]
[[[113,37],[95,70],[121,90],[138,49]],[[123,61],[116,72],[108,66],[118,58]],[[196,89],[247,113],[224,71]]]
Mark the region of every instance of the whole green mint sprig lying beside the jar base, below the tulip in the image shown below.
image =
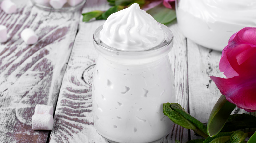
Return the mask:
[[[193,130],[196,134],[201,135],[206,139],[196,139],[188,141],[187,143],[245,143],[245,138],[251,136],[243,131],[236,131],[237,129],[254,128],[256,123],[253,115],[249,114],[233,114],[226,120],[226,124],[222,128],[222,132],[217,133],[213,137],[208,136],[206,133],[206,126],[189,115],[178,103],[164,103],[163,113],[168,116],[171,121],[184,128]],[[214,122],[212,122],[214,126]],[[230,132],[223,132],[230,130]],[[256,133],[254,133],[247,143],[256,142]],[[179,143],[179,141],[175,141]]]

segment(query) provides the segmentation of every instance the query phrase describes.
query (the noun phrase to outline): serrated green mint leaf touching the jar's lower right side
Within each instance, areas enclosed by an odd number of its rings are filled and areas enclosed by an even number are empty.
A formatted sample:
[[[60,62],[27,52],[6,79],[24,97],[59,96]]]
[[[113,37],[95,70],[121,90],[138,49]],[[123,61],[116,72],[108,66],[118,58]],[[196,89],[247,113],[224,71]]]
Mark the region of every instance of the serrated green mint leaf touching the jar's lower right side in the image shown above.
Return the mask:
[[[178,103],[163,103],[163,113],[175,124],[187,129],[192,129],[195,133],[207,138],[206,127],[189,115]]]

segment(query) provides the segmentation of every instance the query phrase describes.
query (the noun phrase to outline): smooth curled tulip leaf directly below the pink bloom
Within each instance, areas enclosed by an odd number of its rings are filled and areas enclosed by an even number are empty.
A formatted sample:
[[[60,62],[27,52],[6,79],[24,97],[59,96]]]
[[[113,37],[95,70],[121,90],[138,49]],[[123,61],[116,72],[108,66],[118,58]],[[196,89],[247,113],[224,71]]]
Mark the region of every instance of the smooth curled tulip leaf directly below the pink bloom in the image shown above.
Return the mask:
[[[226,97],[221,95],[208,119],[207,133],[209,136],[213,137],[221,131],[235,107],[236,105],[228,102]]]

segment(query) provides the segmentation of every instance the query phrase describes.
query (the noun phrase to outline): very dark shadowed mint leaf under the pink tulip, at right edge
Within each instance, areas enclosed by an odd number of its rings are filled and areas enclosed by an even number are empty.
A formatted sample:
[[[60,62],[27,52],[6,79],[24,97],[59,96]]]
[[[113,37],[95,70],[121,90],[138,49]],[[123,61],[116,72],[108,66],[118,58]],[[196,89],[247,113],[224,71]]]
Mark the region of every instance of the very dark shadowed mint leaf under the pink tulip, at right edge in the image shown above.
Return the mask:
[[[236,131],[239,129],[256,128],[256,117],[250,114],[232,114],[228,117],[222,132]]]

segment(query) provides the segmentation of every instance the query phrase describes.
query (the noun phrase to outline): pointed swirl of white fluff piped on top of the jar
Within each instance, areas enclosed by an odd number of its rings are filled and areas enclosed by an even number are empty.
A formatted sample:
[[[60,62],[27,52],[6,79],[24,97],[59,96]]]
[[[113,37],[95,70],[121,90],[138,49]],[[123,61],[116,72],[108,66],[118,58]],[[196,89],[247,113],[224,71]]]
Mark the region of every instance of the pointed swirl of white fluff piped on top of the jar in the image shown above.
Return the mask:
[[[100,39],[119,50],[152,48],[165,39],[161,25],[138,4],[111,14],[103,25]]]

